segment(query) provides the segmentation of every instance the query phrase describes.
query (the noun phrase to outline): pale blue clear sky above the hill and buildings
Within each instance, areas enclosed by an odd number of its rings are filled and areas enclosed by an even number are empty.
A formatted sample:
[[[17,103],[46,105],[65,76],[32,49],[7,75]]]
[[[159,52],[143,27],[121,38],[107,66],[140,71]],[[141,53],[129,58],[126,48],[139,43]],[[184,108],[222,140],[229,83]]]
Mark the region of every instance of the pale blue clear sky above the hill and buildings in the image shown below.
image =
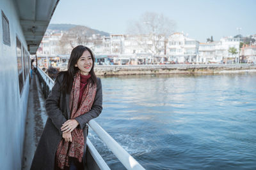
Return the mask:
[[[110,34],[126,34],[145,12],[163,14],[175,32],[205,42],[223,36],[256,34],[256,0],[60,0],[50,24],[77,24]]]

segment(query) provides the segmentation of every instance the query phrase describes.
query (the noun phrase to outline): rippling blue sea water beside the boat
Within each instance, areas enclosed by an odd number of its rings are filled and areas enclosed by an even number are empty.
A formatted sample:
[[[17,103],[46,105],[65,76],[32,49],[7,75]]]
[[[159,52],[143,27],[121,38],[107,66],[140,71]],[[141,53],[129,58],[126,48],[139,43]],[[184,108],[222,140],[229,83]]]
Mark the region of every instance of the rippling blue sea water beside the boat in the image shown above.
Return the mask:
[[[95,120],[145,169],[256,169],[256,74],[102,77]],[[92,129],[111,169],[125,169]]]

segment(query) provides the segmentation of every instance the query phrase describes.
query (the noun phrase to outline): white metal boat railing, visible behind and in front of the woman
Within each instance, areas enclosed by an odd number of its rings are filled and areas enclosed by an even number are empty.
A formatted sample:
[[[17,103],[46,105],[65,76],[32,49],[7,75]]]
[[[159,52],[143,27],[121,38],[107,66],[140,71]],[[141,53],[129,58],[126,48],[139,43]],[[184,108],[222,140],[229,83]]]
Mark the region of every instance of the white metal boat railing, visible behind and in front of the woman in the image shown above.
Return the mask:
[[[49,90],[51,91],[54,81],[42,71],[39,67],[37,68],[38,73],[40,73],[40,76],[42,80],[44,81],[44,85],[47,86]],[[44,87],[45,89],[45,87]],[[102,127],[95,121],[90,120],[88,122],[88,125],[92,127],[93,131],[99,136],[99,138],[108,146],[108,148],[111,150],[111,152],[114,153],[114,155],[120,160],[120,162],[127,168],[132,170],[137,169],[144,169],[129,153],[127,153],[122,146],[120,146],[115,139],[113,139],[108,132],[104,131]],[[92,145],[91,141],[87,138],[87,146],[88,150],[90,151],[93,159],[95,159],[95,162],[97,162],[97,165],[100,167],[100,169],[106,169],[109,170],[108,165],[106,162],[102,159],[102,157],[99,155],[95,147]]]

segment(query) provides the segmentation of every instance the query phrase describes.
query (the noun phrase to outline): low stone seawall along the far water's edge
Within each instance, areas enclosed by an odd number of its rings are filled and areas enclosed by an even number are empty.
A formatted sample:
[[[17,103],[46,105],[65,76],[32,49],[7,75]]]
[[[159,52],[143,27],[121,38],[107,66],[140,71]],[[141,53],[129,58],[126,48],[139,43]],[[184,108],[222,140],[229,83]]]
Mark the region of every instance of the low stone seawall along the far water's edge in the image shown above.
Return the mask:
[[[255,64],[173,64],[95,66],[98,76],[138,74],[221,74],[256,73]]]

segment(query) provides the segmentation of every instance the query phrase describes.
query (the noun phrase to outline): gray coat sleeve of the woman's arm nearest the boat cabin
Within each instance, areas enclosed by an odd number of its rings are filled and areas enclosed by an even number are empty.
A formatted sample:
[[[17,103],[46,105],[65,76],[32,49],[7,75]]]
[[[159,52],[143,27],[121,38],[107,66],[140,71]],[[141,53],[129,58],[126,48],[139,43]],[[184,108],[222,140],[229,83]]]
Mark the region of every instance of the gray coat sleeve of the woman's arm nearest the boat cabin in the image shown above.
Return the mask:
[[[45,109],[54,126],[58,129],[60,134],[62,134],[60,128],[67,119],[60,110],[60,94],[60,78],[56,78],[52,91],[46,99]]]

